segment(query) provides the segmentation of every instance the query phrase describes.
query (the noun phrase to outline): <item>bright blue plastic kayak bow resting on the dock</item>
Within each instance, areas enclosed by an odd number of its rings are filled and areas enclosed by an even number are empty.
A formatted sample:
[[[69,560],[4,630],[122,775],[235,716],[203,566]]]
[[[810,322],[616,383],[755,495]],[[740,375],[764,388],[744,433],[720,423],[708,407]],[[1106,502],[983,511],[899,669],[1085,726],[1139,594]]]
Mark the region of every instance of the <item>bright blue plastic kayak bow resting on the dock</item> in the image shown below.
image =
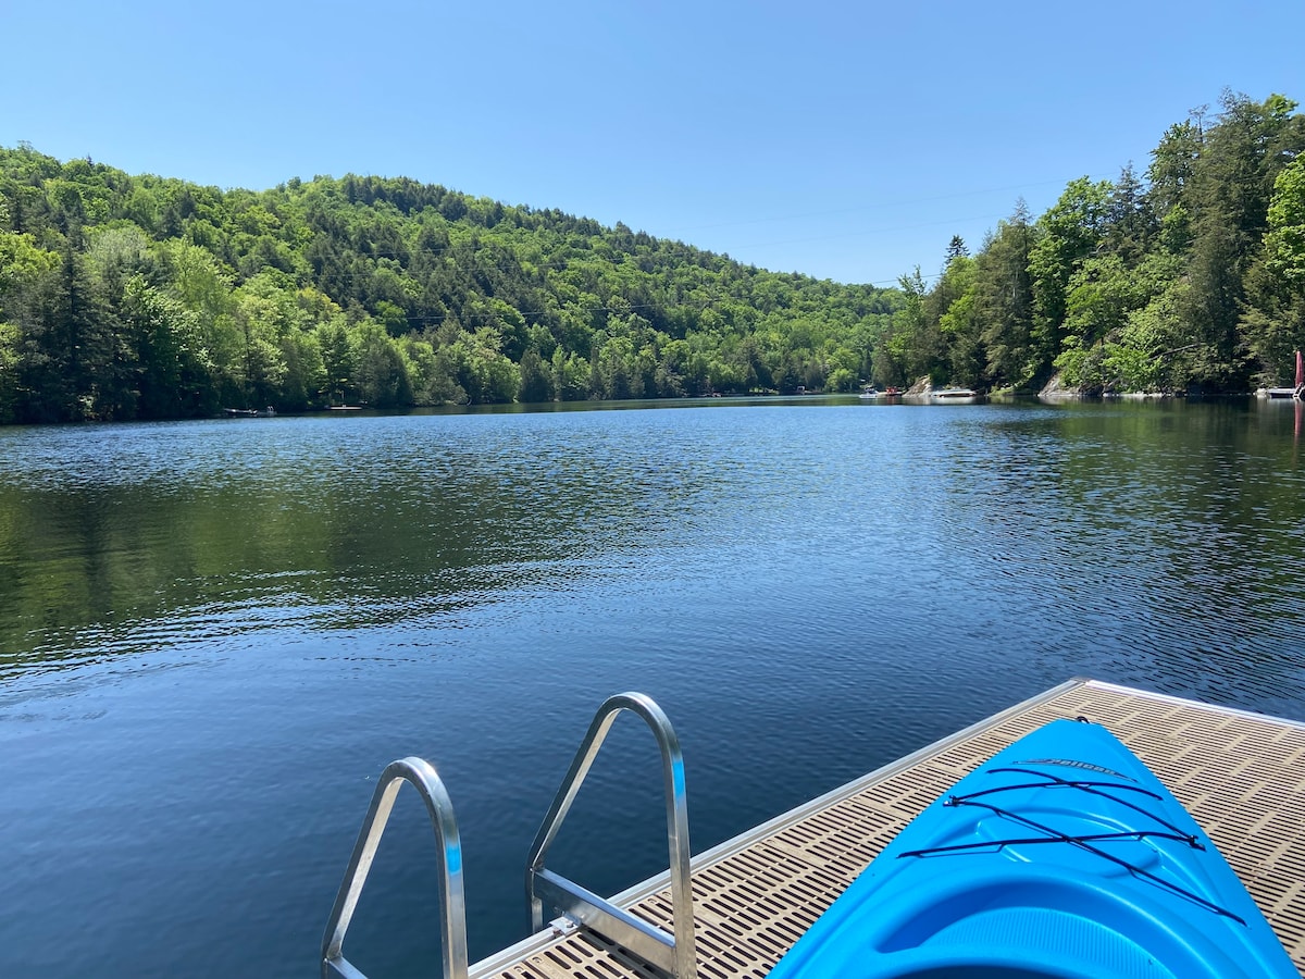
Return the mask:
[[[1054,721],[885,847],[770,979],[1298,979],[1210,838],[1104,727]]]

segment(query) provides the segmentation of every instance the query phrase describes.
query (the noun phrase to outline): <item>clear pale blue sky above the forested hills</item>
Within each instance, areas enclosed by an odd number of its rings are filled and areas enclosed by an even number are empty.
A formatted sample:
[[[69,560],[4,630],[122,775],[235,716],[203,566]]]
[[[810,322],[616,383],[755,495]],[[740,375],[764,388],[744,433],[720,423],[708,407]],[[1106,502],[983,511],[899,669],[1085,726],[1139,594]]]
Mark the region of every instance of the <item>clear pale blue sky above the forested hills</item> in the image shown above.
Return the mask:
[[[0,37],[4,146],[411,176],[881,285],[1225,87],[1305,103],[1305,0],[0,0]]]

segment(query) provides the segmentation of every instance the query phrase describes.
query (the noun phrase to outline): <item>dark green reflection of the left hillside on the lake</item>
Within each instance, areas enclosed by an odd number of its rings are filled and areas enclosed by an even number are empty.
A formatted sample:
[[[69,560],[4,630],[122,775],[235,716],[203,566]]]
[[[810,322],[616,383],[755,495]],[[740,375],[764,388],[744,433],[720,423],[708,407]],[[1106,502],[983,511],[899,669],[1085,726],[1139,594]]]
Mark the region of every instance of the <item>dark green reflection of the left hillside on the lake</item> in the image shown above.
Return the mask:
[[[441,422],[367,419],[359,441],[352,420],[343,439],[300,424],[300,444],[175,427],[159,429],[181,436],[174,461],[110,445],[61,474],[14,473],[0,484],[0,676],[252,630],[448,619],[600,572],[594,553],[649,546],[702,488],[608,436],[542,453],[521,424]]]

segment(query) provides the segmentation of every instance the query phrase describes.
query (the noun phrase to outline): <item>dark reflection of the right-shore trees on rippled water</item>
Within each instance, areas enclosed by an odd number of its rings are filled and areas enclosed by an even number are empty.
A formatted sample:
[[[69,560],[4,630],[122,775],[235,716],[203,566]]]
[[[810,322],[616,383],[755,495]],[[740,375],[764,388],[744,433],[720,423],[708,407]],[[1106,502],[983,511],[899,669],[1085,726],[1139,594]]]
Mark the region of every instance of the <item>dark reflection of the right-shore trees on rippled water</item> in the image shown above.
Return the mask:
[[[1305,697],[1292,422],[1245,402],[998,418],[981,499],[1011,595],[1041,603],[1052,634],[1086,628],[1112,679],[1231,702],[1257,702],[1266,683]]]

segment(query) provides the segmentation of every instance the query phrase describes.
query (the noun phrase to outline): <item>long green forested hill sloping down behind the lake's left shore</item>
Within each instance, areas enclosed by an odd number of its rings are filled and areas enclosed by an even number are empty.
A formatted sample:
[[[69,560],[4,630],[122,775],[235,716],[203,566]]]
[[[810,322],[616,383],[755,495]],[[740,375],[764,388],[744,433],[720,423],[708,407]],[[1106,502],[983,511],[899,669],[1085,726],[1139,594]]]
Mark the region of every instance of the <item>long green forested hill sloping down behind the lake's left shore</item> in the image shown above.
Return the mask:
[[[0,150],[0,419],[851,390],[895,290],[407,179]]]

